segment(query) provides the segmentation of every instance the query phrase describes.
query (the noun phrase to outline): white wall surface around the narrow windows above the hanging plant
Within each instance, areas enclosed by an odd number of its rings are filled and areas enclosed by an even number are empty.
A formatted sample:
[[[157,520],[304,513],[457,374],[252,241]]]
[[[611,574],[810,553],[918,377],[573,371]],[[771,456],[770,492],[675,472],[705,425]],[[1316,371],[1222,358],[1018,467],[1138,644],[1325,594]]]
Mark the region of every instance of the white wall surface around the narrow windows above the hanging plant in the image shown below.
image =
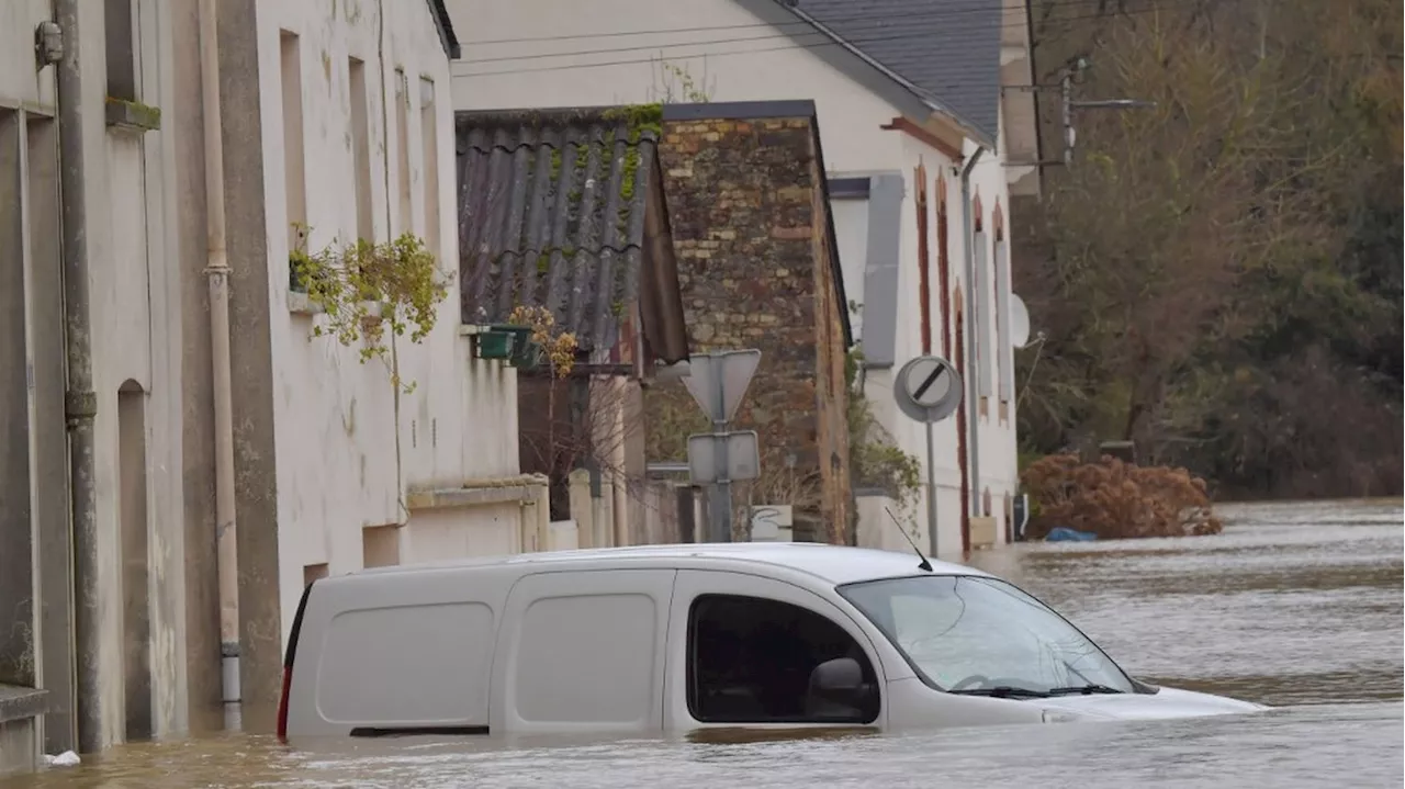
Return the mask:
[[[414,528],[403,507],[406,489],[459,487],[471,477],[516,475],[516,372],[468,359],[458,336],[457,211],[448,59],[429,3],[423,0],[296,0],[259,6],[267,184],[268,277],[277,420],[280,580],[284,630],[303,585],[303,566],[327,563],[332,574],[362,566],[361,529],[388,524]],[[384,17],[382,17],[384,11]],[[361,364],[358,348],[311,338],[313,321],[289,312],[288,201],[284,170],[281,32],[299,37],[302,125],[309,248],[357,236],[355,166],[351,140],[348,58],[365,63],[371,150],[371,202],[378,241],[406,230],[424,236],[427,212],[440,233],[427,239],[452,275],[434,331],[423,345],[398,343],[400,375],[416,382],[399,396],[381,361]],[[396,69],[409,81],[407,139],[398,139]],[[420,79],[433,81],[437,122],[437,205],[426,205]],[[399,147],[409,145],[410,213],[400,209]],[[389,198],[389,199],[388,199]],[[520,510],[520,508],[518,508]],[[516,533],[520,514],[502,508],[458,510],[466,532]],[[400,556],[420,559],[433,532],[452,529],[436,514],[419,550],[402,533]],[[405,529],[402,529],[403,532]],[[434,559],[469,552],[471,541],[433,539]],[[457,548],[455,548],[457,546]]]

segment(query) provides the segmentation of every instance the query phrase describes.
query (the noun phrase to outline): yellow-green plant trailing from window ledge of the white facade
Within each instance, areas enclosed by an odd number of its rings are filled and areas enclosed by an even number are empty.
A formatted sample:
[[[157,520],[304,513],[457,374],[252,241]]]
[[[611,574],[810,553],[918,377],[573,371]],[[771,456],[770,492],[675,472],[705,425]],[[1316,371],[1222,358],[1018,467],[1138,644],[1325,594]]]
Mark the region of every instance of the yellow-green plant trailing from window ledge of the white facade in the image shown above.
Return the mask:
[[[301,232],[301,230],[299,230]],[[325,313],[313,337],[336,337],[343,345],[361,344],[361,362],[385,358],[389,341],[409,336],[422,343],[434,330],[438,303],[448,296],[450,279],[413,233],[372,243],[357,239],[322,251],[298,248],[288,256],[289,285],[302,289]],[[391,373],[402,386],[399,373]],[[413,390],[413,383],[406,390]]]

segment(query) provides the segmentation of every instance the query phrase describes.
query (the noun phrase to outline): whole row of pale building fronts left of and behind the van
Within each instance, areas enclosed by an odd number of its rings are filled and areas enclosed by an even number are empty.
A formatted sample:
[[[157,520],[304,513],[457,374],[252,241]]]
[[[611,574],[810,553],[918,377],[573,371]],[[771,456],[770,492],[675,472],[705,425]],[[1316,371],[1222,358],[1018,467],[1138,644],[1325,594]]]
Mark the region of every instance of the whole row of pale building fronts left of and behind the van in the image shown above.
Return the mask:
[[[308,580],[541,548],[459,326],[441,3],[17,0],[0,44],[0,771],[271,729]],[[312,336],[295,222],[440,257],[413,392]]]

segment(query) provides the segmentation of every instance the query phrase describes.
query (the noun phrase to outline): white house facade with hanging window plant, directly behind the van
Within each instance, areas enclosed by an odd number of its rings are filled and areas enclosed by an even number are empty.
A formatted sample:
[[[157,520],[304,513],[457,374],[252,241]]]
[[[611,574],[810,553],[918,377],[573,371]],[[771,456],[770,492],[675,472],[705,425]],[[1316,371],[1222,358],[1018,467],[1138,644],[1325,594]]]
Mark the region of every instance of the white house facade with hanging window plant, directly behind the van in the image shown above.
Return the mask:
[[[473,358],[459,321],[457,45],[443,10],[434,0],[260,1],[254,21],[281,650],[319,577],[544,548],[547,487],[518,472],[516,371]],[[327,316],[294,288],[289,254],[403,233],[438,257],[447,298],[422,343],[386,329],[389,354],[362,361],[360,343],[316,334]],[[247,626],[242,636],[247,649]],[[266,657],[242,671],[257,674],[243,688],[246,717],[277,702]]]

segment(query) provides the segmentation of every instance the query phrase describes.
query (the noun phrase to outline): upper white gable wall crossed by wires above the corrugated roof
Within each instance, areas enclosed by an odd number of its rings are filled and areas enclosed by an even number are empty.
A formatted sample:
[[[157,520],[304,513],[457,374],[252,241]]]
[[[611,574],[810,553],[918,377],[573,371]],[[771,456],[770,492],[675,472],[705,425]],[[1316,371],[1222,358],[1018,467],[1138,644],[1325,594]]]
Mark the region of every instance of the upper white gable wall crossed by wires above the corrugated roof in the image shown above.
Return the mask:
[[[797,49],[791,39],[778,38],[776,29],[763,27],[762,18],[732,0],[447,0],[445,6],[464,42],[462,58],[452,63],[457,110],[662,101],[669,74],[658,62],[649,60],[658,59],[662,52],[670,65],[686,69],[700,87],[711,88],[714,101],[813,100],[823,126],[825,166],[830,170],[871,170],[891,164],[901,145],[896,132],[877,128],[891,121],[898,114],[896,108],[812,52]],[[767,10],[767,15],[794,27],[795,17],[784,8]],[[728,29],[613,38],[589,35],[693,27]],[[561,35],[584,38],[473,44]],[[745,38],[762,39],[736,41]],[[669,45],[688,41],[710,44]],[[587,51],[603,52],[545,56],[551,52]],[[502,60],[509,56],[517,59]],[[582,67],[583,63],[615,65]],[[493,74],[489,76],[489,72]],[[673,83],[677,86],[676,79]]]

